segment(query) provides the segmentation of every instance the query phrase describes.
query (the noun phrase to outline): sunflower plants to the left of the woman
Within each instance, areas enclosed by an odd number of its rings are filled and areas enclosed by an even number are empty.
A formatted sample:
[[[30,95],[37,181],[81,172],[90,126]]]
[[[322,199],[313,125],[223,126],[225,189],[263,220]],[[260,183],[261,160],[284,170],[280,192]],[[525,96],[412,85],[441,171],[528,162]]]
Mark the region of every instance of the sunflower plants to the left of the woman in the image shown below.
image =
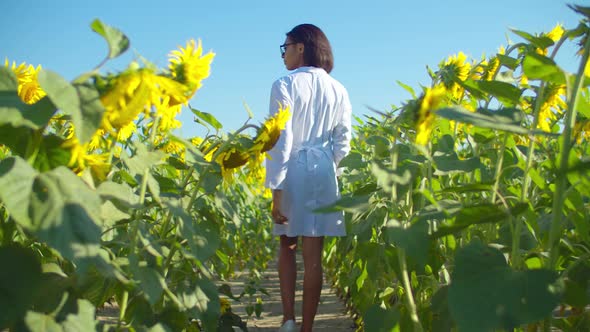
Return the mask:
[[[105,330],[245,327],[226,304],[247,295],[254,308],[264,292],[274,248],[260,226],[262,162],[289,110],[227,134],[191,109],[207,135],[176,137],[214,54],[190,40],[167,68],[100,74],[129,40],[99,20],[91,28],[108,54],[72,82],[0,67],[0,330],[95,330],[106,302],[119,319]],[[220,284],[234,271],[251,272],[242,294]]]

